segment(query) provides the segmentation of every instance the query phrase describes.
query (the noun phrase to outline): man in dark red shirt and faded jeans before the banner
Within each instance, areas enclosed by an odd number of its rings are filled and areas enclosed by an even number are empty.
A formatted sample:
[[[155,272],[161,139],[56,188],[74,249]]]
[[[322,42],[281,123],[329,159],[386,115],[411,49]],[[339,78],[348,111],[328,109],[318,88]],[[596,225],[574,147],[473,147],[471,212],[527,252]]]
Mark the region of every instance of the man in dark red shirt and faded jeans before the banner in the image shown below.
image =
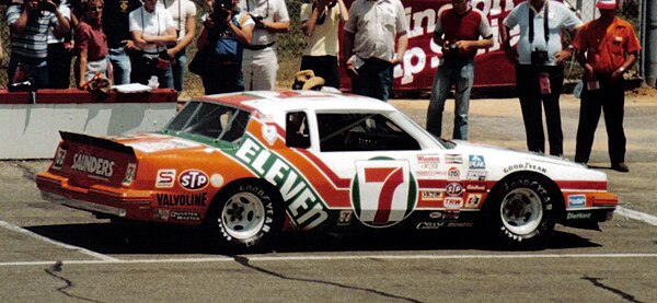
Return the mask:
[[[431,100],[427,109],[427,130],[441,136],[445,101],[454,91],[453,139],[468,140],[468,109],[474,80],[474,55],[493,45],[488,19],[470,4],[470,0],[452,0],[452,7],[438,13],[434,43],[442,47],[442,62],[436,70]],[[480,39],[480,36],[483,39]]]

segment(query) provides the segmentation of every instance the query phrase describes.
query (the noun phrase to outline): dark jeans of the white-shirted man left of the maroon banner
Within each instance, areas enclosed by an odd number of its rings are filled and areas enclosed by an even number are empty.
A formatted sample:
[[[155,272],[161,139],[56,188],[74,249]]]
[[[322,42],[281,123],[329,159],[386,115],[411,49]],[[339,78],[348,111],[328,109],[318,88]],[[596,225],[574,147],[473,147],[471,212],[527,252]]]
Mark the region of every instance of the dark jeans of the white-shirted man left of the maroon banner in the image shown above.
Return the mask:
[[[392,63],[385,60],[365,59],[365,63],[358,69],[358,75],[351,79],[351,91],[388,102],[392,92]]]

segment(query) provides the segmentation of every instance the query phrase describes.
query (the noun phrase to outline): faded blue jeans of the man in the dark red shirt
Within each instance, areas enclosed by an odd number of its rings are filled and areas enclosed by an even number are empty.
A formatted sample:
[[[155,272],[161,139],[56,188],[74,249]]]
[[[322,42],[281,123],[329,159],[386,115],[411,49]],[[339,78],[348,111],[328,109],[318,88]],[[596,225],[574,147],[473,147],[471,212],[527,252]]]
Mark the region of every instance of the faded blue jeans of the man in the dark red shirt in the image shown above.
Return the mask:
[[[468,110],[470,92],[474,81],[474,58],[445,58],[436,70],[431,98],[427,109],[427,130],[441,136],[442,112],[449,91],[454,85],[454,130],[453,139],[468,140]]]

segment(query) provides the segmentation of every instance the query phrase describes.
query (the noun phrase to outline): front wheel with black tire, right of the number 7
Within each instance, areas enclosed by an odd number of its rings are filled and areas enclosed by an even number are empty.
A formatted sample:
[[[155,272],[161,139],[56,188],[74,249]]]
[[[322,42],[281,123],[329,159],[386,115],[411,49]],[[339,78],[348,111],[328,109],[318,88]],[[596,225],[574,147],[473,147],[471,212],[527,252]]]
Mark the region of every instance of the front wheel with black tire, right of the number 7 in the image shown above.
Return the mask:
[[[518,174],[503,179],[486,203],[486,230],[507,245],[543,246],[554,230],[558,189],[543,176]]]

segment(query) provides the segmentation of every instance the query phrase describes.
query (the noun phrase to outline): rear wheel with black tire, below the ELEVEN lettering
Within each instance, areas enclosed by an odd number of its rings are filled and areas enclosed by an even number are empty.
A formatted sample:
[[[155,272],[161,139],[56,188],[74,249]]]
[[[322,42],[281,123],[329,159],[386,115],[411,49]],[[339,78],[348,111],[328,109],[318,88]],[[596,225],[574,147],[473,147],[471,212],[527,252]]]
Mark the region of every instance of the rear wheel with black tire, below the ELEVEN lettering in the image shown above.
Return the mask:
[[[214,247],[256,252],[267,248],[283,226],[283,198],[261,179],[223,189],[210,206],[206,228]]]

